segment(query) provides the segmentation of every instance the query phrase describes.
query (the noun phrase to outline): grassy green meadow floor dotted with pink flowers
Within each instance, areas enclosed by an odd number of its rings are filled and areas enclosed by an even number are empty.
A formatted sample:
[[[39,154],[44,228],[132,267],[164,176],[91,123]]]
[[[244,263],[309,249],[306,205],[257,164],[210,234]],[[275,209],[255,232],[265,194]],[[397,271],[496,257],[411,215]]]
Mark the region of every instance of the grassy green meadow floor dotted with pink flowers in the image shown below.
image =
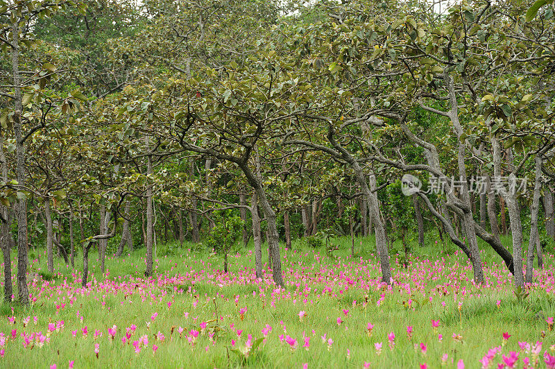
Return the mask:
[[[31,261],[33,303],[0,305],[0,367],[555,367],[552,250],[518,298],[490,250],[484,285],[473,283],[462,252],[436,245],[415,250],[407,268],[392,257],[395,283],[386,286],[372,239],[357,239],[355,257],[349,240],[337,242],[332,257],[282,249],[286,289],[275,288],[267,265],[255,279],[250,248],[232,252],[224,274],[221,255],[159,246],[150,279],[144,249],[109,257],[105,274],[92,253],[88,289],[81,268],[58,258],[54,275],[44,273],[40,255]]]

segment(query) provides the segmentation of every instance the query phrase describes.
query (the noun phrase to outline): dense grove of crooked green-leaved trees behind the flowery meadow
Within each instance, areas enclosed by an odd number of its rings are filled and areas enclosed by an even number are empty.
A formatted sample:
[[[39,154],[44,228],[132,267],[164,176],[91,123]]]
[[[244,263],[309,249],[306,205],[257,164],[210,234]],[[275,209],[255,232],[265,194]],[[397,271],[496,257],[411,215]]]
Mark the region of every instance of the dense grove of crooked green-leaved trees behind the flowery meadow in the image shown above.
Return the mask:
[[[4,298],[44,248],[87,287],[90,250],[227,273],[253,242],[284,286],[280,243],[371,234],[385,284],[439,237],[522,288],[555,245],[554,40],[546,0],[0,0]]]

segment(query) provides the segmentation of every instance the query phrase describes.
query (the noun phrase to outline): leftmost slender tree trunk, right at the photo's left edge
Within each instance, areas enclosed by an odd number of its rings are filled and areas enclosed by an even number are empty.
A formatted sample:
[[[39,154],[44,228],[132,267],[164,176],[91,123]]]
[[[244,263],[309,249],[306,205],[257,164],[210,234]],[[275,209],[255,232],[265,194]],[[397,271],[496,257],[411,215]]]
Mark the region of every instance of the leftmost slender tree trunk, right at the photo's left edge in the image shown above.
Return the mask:
[[[3,135],[0,135],[0,164],[3,182],[8,182],[8,162],[6,162],[6,155],[4,155],[4,142]],[[12,301],[13,286],[12,286],[12,259],[10,257],[12,233],[10,232],[11,216],[10,209],[0,205],[0,214],[4,221],[0,225],[0,247],[3,253],[4,263],[4,301],[7,303]]]

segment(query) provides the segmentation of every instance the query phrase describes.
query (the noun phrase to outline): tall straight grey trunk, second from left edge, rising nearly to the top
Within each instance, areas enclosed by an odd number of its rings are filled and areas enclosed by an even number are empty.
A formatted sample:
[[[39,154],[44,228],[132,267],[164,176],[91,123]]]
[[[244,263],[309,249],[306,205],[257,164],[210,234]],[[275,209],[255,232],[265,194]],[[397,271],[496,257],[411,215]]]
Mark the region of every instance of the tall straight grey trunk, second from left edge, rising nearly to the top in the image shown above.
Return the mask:
[[[13,130],[15,135],[16,179],[20,186],[25,184],[25,155],[26,148],[22,135],[21,116],[23,112],[22,89],[19,78],[19,22],[12,23],[12,74],[14,88],[14,113]],[[27,287],[27,200],[21,198],[17,201],[17,290],[19,302],[29,303],[29,290]]]

